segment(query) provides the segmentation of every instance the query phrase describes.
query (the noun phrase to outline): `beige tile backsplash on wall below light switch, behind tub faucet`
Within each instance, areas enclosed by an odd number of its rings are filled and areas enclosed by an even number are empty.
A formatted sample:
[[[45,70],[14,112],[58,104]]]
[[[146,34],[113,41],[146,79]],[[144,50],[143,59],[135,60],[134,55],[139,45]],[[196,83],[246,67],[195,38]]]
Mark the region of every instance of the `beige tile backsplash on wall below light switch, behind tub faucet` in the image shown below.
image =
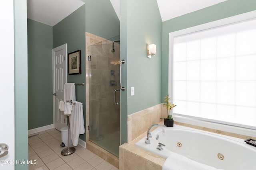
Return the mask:
[[[167,116],[167,111],[162,108],[162,104],[158,104],[128,115],[128,143],[146,132],[151,125],[162,122],[162,119],[160,118]]]

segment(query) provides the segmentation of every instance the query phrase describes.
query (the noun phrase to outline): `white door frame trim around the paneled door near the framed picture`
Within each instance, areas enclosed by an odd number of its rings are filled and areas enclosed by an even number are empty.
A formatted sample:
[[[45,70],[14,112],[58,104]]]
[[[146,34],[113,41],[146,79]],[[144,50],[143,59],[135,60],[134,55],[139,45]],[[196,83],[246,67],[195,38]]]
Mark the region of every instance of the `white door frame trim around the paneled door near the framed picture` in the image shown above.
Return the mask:
[[[65,43],[63,45],[60,45],[60,46],[52,49],[52,94],[55,93],[55,86],[54,86],[54,82],[55,82],[54,81],[55,80],[55,74],[54,74],[54,72],[55,72],[54,54],[55,54],[56,51],[59,51],[61,49],[65,49],[65,64],[64,64],[64,66],[65,66],[65,73],[66,73],[65,74],[65,79],[66,79],[65,82],[68,81],[68,74],[67,74],[67,68],[68,68],[68,62],[67,62],[67,59],[68,59],[68,57],[67,57],[68,49],[67,49],[67,43]],[[53,98],[53,100],[52,100],[52,117],[53,117],[53,127],[55,128],[55,109],[58,106],[54,106],[54,96],[52,96],[52,98]]]

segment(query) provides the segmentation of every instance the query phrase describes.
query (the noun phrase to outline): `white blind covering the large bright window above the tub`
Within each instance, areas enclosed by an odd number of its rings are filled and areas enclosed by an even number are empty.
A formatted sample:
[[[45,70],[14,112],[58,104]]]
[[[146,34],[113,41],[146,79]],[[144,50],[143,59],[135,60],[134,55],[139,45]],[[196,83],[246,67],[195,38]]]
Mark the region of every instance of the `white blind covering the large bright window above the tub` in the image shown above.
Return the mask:
[[[256,129],[256,20],[173,40],[174,115]]]

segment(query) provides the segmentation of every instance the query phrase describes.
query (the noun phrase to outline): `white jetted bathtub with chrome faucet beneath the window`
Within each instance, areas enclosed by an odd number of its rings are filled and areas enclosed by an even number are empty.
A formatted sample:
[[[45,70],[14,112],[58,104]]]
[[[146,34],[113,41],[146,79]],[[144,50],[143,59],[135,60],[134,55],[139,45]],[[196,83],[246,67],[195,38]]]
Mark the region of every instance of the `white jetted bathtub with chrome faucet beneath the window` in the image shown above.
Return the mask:
[[[158,127],[151,132],[150,144],[146,137],[135,145],[165,158],[171,152],[191,160],[224,170],[255,170],[256,147],[248,145],[245,139],[219,135],[180,125],[165,127],[165,133]],[[157,149],[162,143],[163,150]]]

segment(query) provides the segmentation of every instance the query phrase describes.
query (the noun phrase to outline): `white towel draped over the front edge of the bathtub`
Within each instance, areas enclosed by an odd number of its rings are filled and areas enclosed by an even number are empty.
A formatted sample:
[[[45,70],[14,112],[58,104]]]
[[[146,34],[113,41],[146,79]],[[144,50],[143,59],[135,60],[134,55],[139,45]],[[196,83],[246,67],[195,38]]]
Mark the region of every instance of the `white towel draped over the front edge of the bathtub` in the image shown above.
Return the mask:
[[[168,156],[162,170],[220,170],[206,164],[201,164],[194,160],[182,156],[180,154],[171,152]]]

